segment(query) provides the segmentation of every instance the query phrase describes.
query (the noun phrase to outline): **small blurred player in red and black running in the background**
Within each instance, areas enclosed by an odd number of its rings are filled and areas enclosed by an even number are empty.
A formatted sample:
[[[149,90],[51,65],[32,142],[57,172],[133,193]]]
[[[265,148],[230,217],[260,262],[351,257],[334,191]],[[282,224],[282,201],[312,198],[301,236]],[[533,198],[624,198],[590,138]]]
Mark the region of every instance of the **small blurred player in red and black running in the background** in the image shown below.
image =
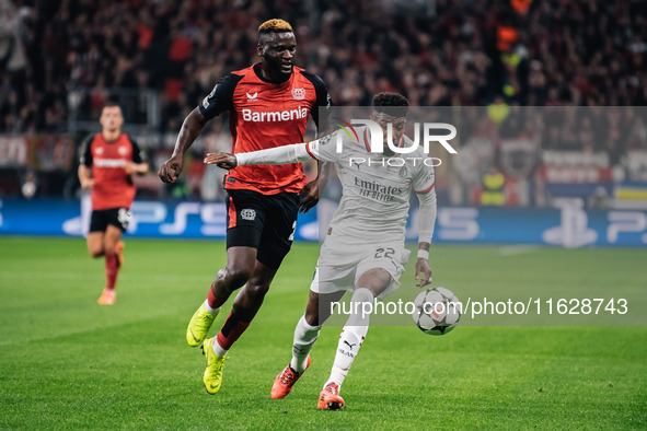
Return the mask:
[[[148,163],[137,143],[122,133],[124,116],[117,104],[105,104],[100,123],[101,133],[88,137],[81,147],[79,180],[83,189],[92,189],[88,251],[92,257],[105,256],[106,286],[97,302],[111,305],[123,264],[122,233],[128,228],[136,193],[130,175],[148,172]]]

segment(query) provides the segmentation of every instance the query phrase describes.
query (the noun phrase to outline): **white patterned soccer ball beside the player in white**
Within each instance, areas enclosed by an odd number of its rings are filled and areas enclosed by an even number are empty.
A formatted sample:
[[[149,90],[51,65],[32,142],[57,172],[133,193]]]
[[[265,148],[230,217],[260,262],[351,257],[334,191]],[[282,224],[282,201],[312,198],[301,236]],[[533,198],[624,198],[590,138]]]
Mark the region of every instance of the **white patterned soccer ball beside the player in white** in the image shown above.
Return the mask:
[[[462,305],[449,289],[429,288],[414,300],[412,317],[425,334],[444,335],[457,327]]]

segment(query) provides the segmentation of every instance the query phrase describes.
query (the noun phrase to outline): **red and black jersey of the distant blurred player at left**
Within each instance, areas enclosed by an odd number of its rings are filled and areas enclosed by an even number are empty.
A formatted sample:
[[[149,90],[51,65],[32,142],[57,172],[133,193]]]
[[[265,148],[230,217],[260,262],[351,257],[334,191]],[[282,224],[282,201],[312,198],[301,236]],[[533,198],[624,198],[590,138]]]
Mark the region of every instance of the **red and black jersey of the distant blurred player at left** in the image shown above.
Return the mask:
[[[135,185],[126,173],[126,162],[142,163],[137,143],[126,133],[106,141],[102,133],[90,136],[81,147],[79,162],[92,168],[92,209],[130,208],[135,199]]]

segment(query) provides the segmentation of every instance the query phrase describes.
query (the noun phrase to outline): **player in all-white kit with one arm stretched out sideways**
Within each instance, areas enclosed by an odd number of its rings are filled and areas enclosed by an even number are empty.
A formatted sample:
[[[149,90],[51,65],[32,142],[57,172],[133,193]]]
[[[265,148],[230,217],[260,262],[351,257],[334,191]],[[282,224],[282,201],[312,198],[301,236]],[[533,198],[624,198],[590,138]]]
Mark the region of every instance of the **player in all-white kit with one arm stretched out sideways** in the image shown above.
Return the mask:
[[[392,142],[409,147],[404,136],[408,101],[395,93],[380,93],[373,97],[370,119],[383,131],[392,126]],[[361,313],[365,303],[383,299],[400,287],[400,276],[408,260],[405,248],[405,226],[412,190],[420,202],[416,280],[418,287],[431,279],[429,247],[436,221],[436,190],[432,163],[424,163],[428,155],[418,148],[406,156],[389,149],[383,135],[384,151],[370,148],[369,130],[357,127],[359,142],[353,142],[343,130],[319,140],[268,150],[239,153],[208,154],[205,163],[233,168],[251,164],[285,164],[308,160],[333,162],[343,185],[343,195],[321,247],[317,267],[305,313],[297,324],[292,360],[276,377],[273,398],[290,393],[297,380],[310,365],[310,350],[324,322],[331,315],[331,304],[353,292],[351,313],[342,330],[331,375],[319,397],[320,409],[344,407],[339,389],[363,342],[370,314]],[[337,150],[337,135],[342,151]],[[396,163],[394,158],[398,158]],[[392,163],[389,163],[391,161]],[[403,164],[404,161],[404,164]]]

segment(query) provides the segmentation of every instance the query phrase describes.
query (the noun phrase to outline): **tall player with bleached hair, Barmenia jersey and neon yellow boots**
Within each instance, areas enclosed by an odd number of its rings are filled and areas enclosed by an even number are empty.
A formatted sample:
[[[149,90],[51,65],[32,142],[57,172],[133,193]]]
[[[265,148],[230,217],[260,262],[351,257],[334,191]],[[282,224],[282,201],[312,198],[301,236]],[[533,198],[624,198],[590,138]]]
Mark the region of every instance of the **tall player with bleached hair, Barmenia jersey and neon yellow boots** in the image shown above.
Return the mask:
[[[319,77],[294,67],[296,48],[289,23],[263,23],[257,45],[261,62],[224,75],[185,118],[173,155],[160,167],[160,178],[175,182],[186,150],[205,124],[226,110],[234,154],[302,142],[308,114],[325,131],[328,121],[319,117],[317,108],[330,106],[327,90]],[[300,163],[240,166],[224,177],[224,188],[227,266],[218,271],[186,334],[189,346],[203,343],[207,358],[203,381],[210,394],[220,389],[226,353],[250,326],[290,249],[299,209],[308,211],[319,200],[317,180],[305,185]],[[242,286],[218,336],[205,339],[220,306]]]

